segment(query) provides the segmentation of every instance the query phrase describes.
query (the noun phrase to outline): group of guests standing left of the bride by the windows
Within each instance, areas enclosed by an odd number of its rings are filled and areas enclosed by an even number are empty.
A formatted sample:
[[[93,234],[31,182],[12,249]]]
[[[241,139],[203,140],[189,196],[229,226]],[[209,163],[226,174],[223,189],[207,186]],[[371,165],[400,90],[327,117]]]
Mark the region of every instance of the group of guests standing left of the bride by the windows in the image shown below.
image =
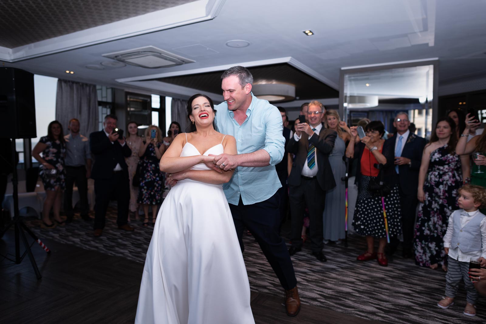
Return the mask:
[[[139,220],[140,206],[144,214],[143,226],[155,223],[166,187],[165,174],[159,170],[158,164],[180,125],[173,122],[167,137],[162,137],[155,125],[149,126],[144,136],[139,136],[139,125],[129,122],[126,137],[123,137],[117,122],[116,115],[105,116],[103,130],[91,133],[89,138],[79,133],[80,124],[76,118],[69,120],[67,135],[58,121],[49,124],[47,136],[41,137],[32,151],[39,162],[39,177],[46,192],[42,227],[54,228],[72,222],[74,183],[80,198],[80,216],[87,222],[93,221],[88,214],[88,178],[95,180],[95,237],[103,233],[106,210],[113,198],[118,203],[117,225],[121,230],[134,230],[128,223]],[[65,220],[60,216],[61,206]],[[149,208],[152,210],[151,220]]]

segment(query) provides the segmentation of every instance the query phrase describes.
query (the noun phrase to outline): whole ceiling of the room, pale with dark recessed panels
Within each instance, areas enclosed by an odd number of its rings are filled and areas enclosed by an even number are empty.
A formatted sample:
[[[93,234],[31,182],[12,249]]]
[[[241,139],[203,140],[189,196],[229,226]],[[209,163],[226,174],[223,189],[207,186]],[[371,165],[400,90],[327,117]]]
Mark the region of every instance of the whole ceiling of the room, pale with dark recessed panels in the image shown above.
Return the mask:
[[[173,97],[221,101],[216,76],[233,65],[305,98],[336,94],[341,67],[438,58],[439,86],[486,74],[484,0],[6,0],[0,13],[0,65]],[[103,54],[150,45],[195,62],[100,65],[111,61]]]

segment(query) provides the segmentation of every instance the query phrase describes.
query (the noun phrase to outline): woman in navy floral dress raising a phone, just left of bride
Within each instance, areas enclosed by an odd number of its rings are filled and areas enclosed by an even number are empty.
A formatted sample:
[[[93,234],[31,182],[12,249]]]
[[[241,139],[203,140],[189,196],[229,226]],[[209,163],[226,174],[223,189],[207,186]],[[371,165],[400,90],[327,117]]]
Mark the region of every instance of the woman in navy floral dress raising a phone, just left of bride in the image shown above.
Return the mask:
[[[159,162],[164,150],[160,129],[154,125],[148,127],[145,130],[145,141],[139,150],[140,186],[137,202],[143,207],[144,226],[149,224],[149,205],[152,206],[153,225],[157,217],[157,207],[162,203],[163,174],[159,169]]]

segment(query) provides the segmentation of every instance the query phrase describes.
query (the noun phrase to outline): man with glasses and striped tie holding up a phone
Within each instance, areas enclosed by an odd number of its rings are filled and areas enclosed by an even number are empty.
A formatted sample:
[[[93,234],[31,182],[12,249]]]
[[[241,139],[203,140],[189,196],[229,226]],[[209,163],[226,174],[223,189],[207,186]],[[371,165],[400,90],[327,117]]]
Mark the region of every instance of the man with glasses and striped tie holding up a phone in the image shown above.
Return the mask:
[[[319,261],[327,261],[322,253],[323,225],[322,213],[326,191],[334,188],[336,182],[329,163],[329,154],[334,147],[337,133],[321,124],[324,106],[319,101],[309,103],[308,123],[298,123],[295,135],[291,137],[287,150],[295,154],[292,170],[288,178],[290,187],[290,211],[292,214],[292,247],[294,255],[302,249],[302,225],[304,209],[307,205],[311,220],[310,236],[312,254]]]

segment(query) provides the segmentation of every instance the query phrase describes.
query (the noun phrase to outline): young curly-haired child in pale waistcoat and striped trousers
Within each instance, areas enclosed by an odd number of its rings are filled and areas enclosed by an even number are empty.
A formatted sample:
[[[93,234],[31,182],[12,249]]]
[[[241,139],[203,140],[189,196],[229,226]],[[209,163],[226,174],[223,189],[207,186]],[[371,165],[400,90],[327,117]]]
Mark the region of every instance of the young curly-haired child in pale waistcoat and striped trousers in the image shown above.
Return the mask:
[[[469,278],[469,260],[479,259],[486,267],[486,215],[479,211],[486,206],[486,190],[483,187],[466,184],[457,191],[459,208],[449,217],[444,236],[444,250],[448,254],[446,275],[446,297],[437,303],[440,308],[454,305],[454,297],[461,278],[466,286],[466,308],[464,315],[476,316],[476,302],[479,298]]]

